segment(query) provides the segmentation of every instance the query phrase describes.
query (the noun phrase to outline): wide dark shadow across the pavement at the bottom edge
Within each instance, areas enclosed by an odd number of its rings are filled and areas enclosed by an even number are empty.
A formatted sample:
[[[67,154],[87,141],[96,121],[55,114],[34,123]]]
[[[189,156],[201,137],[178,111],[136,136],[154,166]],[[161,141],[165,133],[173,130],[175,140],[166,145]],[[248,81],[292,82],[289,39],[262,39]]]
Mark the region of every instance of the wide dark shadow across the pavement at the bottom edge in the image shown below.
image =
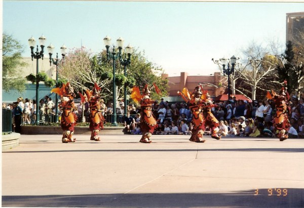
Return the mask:
[[[304,189],[259,189],[232,193],[146,193],[3,196],[2,206],[40,207],[303,207]]]

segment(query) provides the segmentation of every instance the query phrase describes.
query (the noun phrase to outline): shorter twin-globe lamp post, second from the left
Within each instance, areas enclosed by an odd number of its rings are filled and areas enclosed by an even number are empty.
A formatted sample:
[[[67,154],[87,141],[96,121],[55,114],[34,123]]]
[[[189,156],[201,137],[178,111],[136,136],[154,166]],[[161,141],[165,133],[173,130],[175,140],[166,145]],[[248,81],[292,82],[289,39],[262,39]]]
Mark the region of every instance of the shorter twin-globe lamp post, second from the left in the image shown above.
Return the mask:
[[[58,87],[58,53],[56,55],[56,61],[54,60],[54,58],[52,58],[53,52],[54,52],[54,46],[52,44],[50,44],[48,46],[48,51],[49,51],[49,55],[50,55],[50,65],[53,63],[54,65],[56,65],[56,87]],[[64,59],[64,56],[66,54],[66,46],[63,45],[60,47],[61,49],[61,55],[62,55],[62,59]],[[58,94],[56,93],[56,98],[55,98],[55,122],[58,123]]]

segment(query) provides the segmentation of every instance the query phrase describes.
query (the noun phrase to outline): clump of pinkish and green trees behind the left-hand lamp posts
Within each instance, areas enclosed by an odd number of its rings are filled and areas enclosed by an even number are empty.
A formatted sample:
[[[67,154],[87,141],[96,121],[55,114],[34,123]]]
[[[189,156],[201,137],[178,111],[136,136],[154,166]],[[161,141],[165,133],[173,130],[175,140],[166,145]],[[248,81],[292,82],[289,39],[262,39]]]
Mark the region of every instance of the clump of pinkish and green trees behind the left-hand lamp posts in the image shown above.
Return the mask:
[[[89,51],[82,49],[74,49],[67,54],[64,60],[59,64],[59,77],[68,80],[75,90],[83,91],[92,89],[94,82],[101,87],[101,97],[106,101],[112,99],[112,61],[107,60],[105,50],[92,55]],[[126,67],[127,77],[124,76],[124,66],[120,64],[119,58],[116,60],[116,86],[117,98],[123,97],[124,86],[127,90],[134,85],[143,88],[147,83],[153,85],[156,83],[163,92],[163,96],[167,94],[167,80],[163,80],[160,74],[162,68],[147,61],[144,53],[134,50],[131,56],[131,64]],[[160,98],[160,95],[151,93],[154,98]]]

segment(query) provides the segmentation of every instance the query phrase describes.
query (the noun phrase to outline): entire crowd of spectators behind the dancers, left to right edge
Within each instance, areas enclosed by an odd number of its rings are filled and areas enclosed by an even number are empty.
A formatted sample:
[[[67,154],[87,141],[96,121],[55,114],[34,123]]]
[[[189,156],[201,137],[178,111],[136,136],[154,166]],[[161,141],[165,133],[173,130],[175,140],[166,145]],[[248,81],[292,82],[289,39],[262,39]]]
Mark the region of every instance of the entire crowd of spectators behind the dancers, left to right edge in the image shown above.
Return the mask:
[[[130,104],[127,107],[127,117],[124,115],[124,102],[122,99],[117,103],[117,114],[120,115],[118,122],[125,125],[124,133],[141,134],[140,131],[140,107],[136,108]],[[212,108],[212,113],[219,121],[218,134],[221,136],[269,136],[273,137],[274,116],[276,114],[275,103],[272,100],[246,100],[220,101],[214,103],[216,106]],[[38,103],[42,121],[54,119],[55,104],[52,99],[45,96]],[[17,101],[6,105],[3,108],[13,110],[13,122],[16,125],[26,125],[35,123],[36,101],[28,98],[18,97]],[[17,108],[18,107],[18,108]],[[299,99],[293,96],[288,102],[290,129],[288,135],[290,138],[304,138],[304,98]],[[82,111],[84,110],[84,114]],[[111,122],[113,113],[112,103],[106,107],[104,100],[101,100],[101,111],[107,122]],[[75,113],[79,116],[79,120],[89,122],[89,104],[87,101],[78,103]],[[169,103],[162,98],[159,102],[153,104],[153,113],[157,120],[157,126],[154,134],[191,134],[192,129],[192,113],[187,103],[175,102]],[[60,110],[58,115],[60,119]],[[82,118],[84,115],[84,118]],[[19,118],[20,117],[20,118]],[[17,127],[17,131],[18,131]],[[208,126],[204,132],[210,135]]]

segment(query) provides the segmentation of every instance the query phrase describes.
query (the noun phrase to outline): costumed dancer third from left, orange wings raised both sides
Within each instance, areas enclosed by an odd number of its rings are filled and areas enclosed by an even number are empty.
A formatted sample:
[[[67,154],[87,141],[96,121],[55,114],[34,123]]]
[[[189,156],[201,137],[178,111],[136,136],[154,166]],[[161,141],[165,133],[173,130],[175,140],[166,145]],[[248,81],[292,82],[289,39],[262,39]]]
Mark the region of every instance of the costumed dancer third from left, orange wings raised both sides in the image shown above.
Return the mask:
[[[159,88],[154,84],[156,92],[159,94]],[[142,137],[139,142],[141,143],[151,143],[150,136],[154,132],[156,126],[156,119],[152,112],[152,104],[155,102],[154,99],[150,98],[150,90],[146,84],[142,90],[142,95],[137,86],[132,88],[131,98],[136,102],[140,103],[140,129],[142,132]]]

